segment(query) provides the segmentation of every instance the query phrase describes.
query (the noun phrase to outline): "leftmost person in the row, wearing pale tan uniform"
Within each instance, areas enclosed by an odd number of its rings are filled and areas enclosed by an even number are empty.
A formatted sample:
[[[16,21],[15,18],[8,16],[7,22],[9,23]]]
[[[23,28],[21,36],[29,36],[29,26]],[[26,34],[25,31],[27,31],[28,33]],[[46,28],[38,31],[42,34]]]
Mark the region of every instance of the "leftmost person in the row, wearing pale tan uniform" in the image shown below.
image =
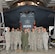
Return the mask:
[[[6,51],[7,53],[9,53],[9,49],[10,49],[10,28],[9,27],[6,28],[5,40],[6,40]]]

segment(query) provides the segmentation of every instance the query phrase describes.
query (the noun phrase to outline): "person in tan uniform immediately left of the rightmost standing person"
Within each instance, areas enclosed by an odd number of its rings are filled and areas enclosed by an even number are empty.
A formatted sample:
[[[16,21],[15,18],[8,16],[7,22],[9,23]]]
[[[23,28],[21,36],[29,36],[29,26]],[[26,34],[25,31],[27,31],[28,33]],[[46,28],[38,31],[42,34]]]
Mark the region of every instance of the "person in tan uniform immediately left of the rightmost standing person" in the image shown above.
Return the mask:
[[[38,28],[38,37],[37,37],[37,49],[39,51],[43,50],[43,42],[42,42],[42,28]]]

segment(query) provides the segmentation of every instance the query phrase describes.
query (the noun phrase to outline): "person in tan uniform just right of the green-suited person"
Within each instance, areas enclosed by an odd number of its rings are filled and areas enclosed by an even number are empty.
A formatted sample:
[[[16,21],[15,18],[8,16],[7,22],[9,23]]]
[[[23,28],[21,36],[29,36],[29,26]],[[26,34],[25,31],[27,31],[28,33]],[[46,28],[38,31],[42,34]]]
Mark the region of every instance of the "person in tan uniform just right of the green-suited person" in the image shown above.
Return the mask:
[[[35,30],[34,28],[32,28],[32,32],[31,32],[31,46],[30,46],[31,50],[36,51],[37,47],[36,47],[36,34],[35,34]]]

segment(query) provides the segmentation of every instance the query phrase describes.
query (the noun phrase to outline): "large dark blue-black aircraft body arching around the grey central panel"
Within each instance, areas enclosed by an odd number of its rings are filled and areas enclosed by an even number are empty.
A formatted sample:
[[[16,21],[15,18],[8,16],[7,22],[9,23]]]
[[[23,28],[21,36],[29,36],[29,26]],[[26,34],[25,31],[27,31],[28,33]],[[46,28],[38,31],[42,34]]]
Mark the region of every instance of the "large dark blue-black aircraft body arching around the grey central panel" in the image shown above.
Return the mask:
[[[54,25],[55,12],[40,6],[21,6],[4,12],[5,26],[19,27],[20,12],[34,11],[36,26],[49,27]]]

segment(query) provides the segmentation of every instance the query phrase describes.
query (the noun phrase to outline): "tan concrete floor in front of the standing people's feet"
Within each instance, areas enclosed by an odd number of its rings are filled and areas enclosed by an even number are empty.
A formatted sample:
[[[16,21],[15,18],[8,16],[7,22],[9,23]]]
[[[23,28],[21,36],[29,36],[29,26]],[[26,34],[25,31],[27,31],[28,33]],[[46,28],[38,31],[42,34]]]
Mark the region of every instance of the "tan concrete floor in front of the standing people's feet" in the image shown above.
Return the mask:
[[[0,50],[0,54],[7,54],[6,50]],[[19,52],[18,50],[15,51],[11,51],[9,52],[9,54],[55,54],[55,48],[49,49],[48,51],[29,51],[29,52]]]

